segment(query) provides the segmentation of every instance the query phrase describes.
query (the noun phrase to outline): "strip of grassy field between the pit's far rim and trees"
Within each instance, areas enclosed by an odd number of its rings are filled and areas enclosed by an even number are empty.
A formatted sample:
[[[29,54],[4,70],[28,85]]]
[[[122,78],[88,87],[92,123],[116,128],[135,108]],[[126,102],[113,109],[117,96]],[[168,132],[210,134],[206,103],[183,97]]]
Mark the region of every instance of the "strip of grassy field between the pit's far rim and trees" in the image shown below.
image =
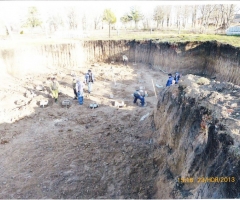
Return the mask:
[[[182,31],[183,32],[183,31]],[[10,47],[19,44],[57,44],[71,43],[80,40],[158,40],[159,42],[186,42],[186,41],[218,41],[224,44],[230,44],[235,47],[240,47],[240,36],[227,36],[225,34],[177,34],[176,32],[135,32],[121,30],[117,33],[116,30],[111,32],[111,37],[108,37],[108,31],[99,31],[88,33],[82,38],[60,38],[53,36],[46,37],[45,35],[18,35],[15,38],[1,40],[1,47]]]

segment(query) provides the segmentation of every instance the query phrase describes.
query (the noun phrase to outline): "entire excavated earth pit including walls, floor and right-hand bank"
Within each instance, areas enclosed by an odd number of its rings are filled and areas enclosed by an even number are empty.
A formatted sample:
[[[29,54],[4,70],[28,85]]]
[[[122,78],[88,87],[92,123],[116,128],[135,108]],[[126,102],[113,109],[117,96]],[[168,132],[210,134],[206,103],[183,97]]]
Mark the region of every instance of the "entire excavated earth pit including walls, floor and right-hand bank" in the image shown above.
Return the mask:
[[[215,42],[107,44],[2,50],[0,198],[239,198],[239,50],[228,46],[235,52],[228,56]],[[84,105],[61,106],[73,98],[71,74],[82,79],[89,68],[93,93],[85,92]],[[166,72],[176,70],[180,83],[166,88]],[[53,75],[59,103],[47,87]],[[139,86],[149,94],[144,108],[132,102]],[[112,103],[122,100],[122,108]],[[90,109],[93,102],[99,108]],[[187,177],[193,182],[181,181]]]

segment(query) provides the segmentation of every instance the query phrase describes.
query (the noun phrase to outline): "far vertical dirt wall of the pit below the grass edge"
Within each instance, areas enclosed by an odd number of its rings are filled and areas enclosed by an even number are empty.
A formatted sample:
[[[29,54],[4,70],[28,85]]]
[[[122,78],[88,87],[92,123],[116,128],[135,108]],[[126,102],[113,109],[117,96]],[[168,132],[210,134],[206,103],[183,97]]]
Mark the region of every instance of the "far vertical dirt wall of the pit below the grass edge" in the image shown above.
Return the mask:
[[[12,75],[43,72],[47,68],[71,66],[77,69],[98,61],[145,63],[165,72],[197,74],[240,84],[240,49],[211,42],[169,43],[146,41],[74,41],[58,44],[21,44],[2,48],[1,70]]]

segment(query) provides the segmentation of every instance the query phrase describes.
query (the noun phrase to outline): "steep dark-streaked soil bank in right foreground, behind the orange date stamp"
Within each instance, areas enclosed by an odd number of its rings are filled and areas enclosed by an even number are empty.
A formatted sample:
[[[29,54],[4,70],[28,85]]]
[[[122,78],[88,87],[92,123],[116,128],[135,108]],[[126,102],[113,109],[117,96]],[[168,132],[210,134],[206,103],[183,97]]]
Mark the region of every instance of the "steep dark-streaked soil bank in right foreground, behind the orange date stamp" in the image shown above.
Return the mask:
[[[154,112],[155,198],[240,197],[239,94],[237,85],[193,75],[161,92]]]

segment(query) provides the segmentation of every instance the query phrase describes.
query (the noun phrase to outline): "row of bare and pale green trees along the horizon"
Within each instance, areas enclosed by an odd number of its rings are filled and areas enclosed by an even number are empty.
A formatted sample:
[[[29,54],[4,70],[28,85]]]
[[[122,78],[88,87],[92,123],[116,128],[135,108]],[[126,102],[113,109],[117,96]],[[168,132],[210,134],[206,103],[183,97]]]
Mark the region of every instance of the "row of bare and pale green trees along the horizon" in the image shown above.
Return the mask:
[[[209,27],[226,29],[230,26],[234,15],[239,11],[235,4],[209,5],[159,5],[152,12],[145,13],[137,7],[130,7],[129,11],[117,19],[111,9],[98,13],[80,13],[76,8],[69,8],[64,13],[48,14],[44,19],[36,7],[30,7],[23,20],[23,27],[44,27],[52,32],[57,30],[97,30],[103,29],[104,24],[110,30],[119,20],[121,27],[133,29],[199,28],[202,32]],[[141,23],[140,23],[141,22]],[[141,26],[139,26],[141,24]]]

